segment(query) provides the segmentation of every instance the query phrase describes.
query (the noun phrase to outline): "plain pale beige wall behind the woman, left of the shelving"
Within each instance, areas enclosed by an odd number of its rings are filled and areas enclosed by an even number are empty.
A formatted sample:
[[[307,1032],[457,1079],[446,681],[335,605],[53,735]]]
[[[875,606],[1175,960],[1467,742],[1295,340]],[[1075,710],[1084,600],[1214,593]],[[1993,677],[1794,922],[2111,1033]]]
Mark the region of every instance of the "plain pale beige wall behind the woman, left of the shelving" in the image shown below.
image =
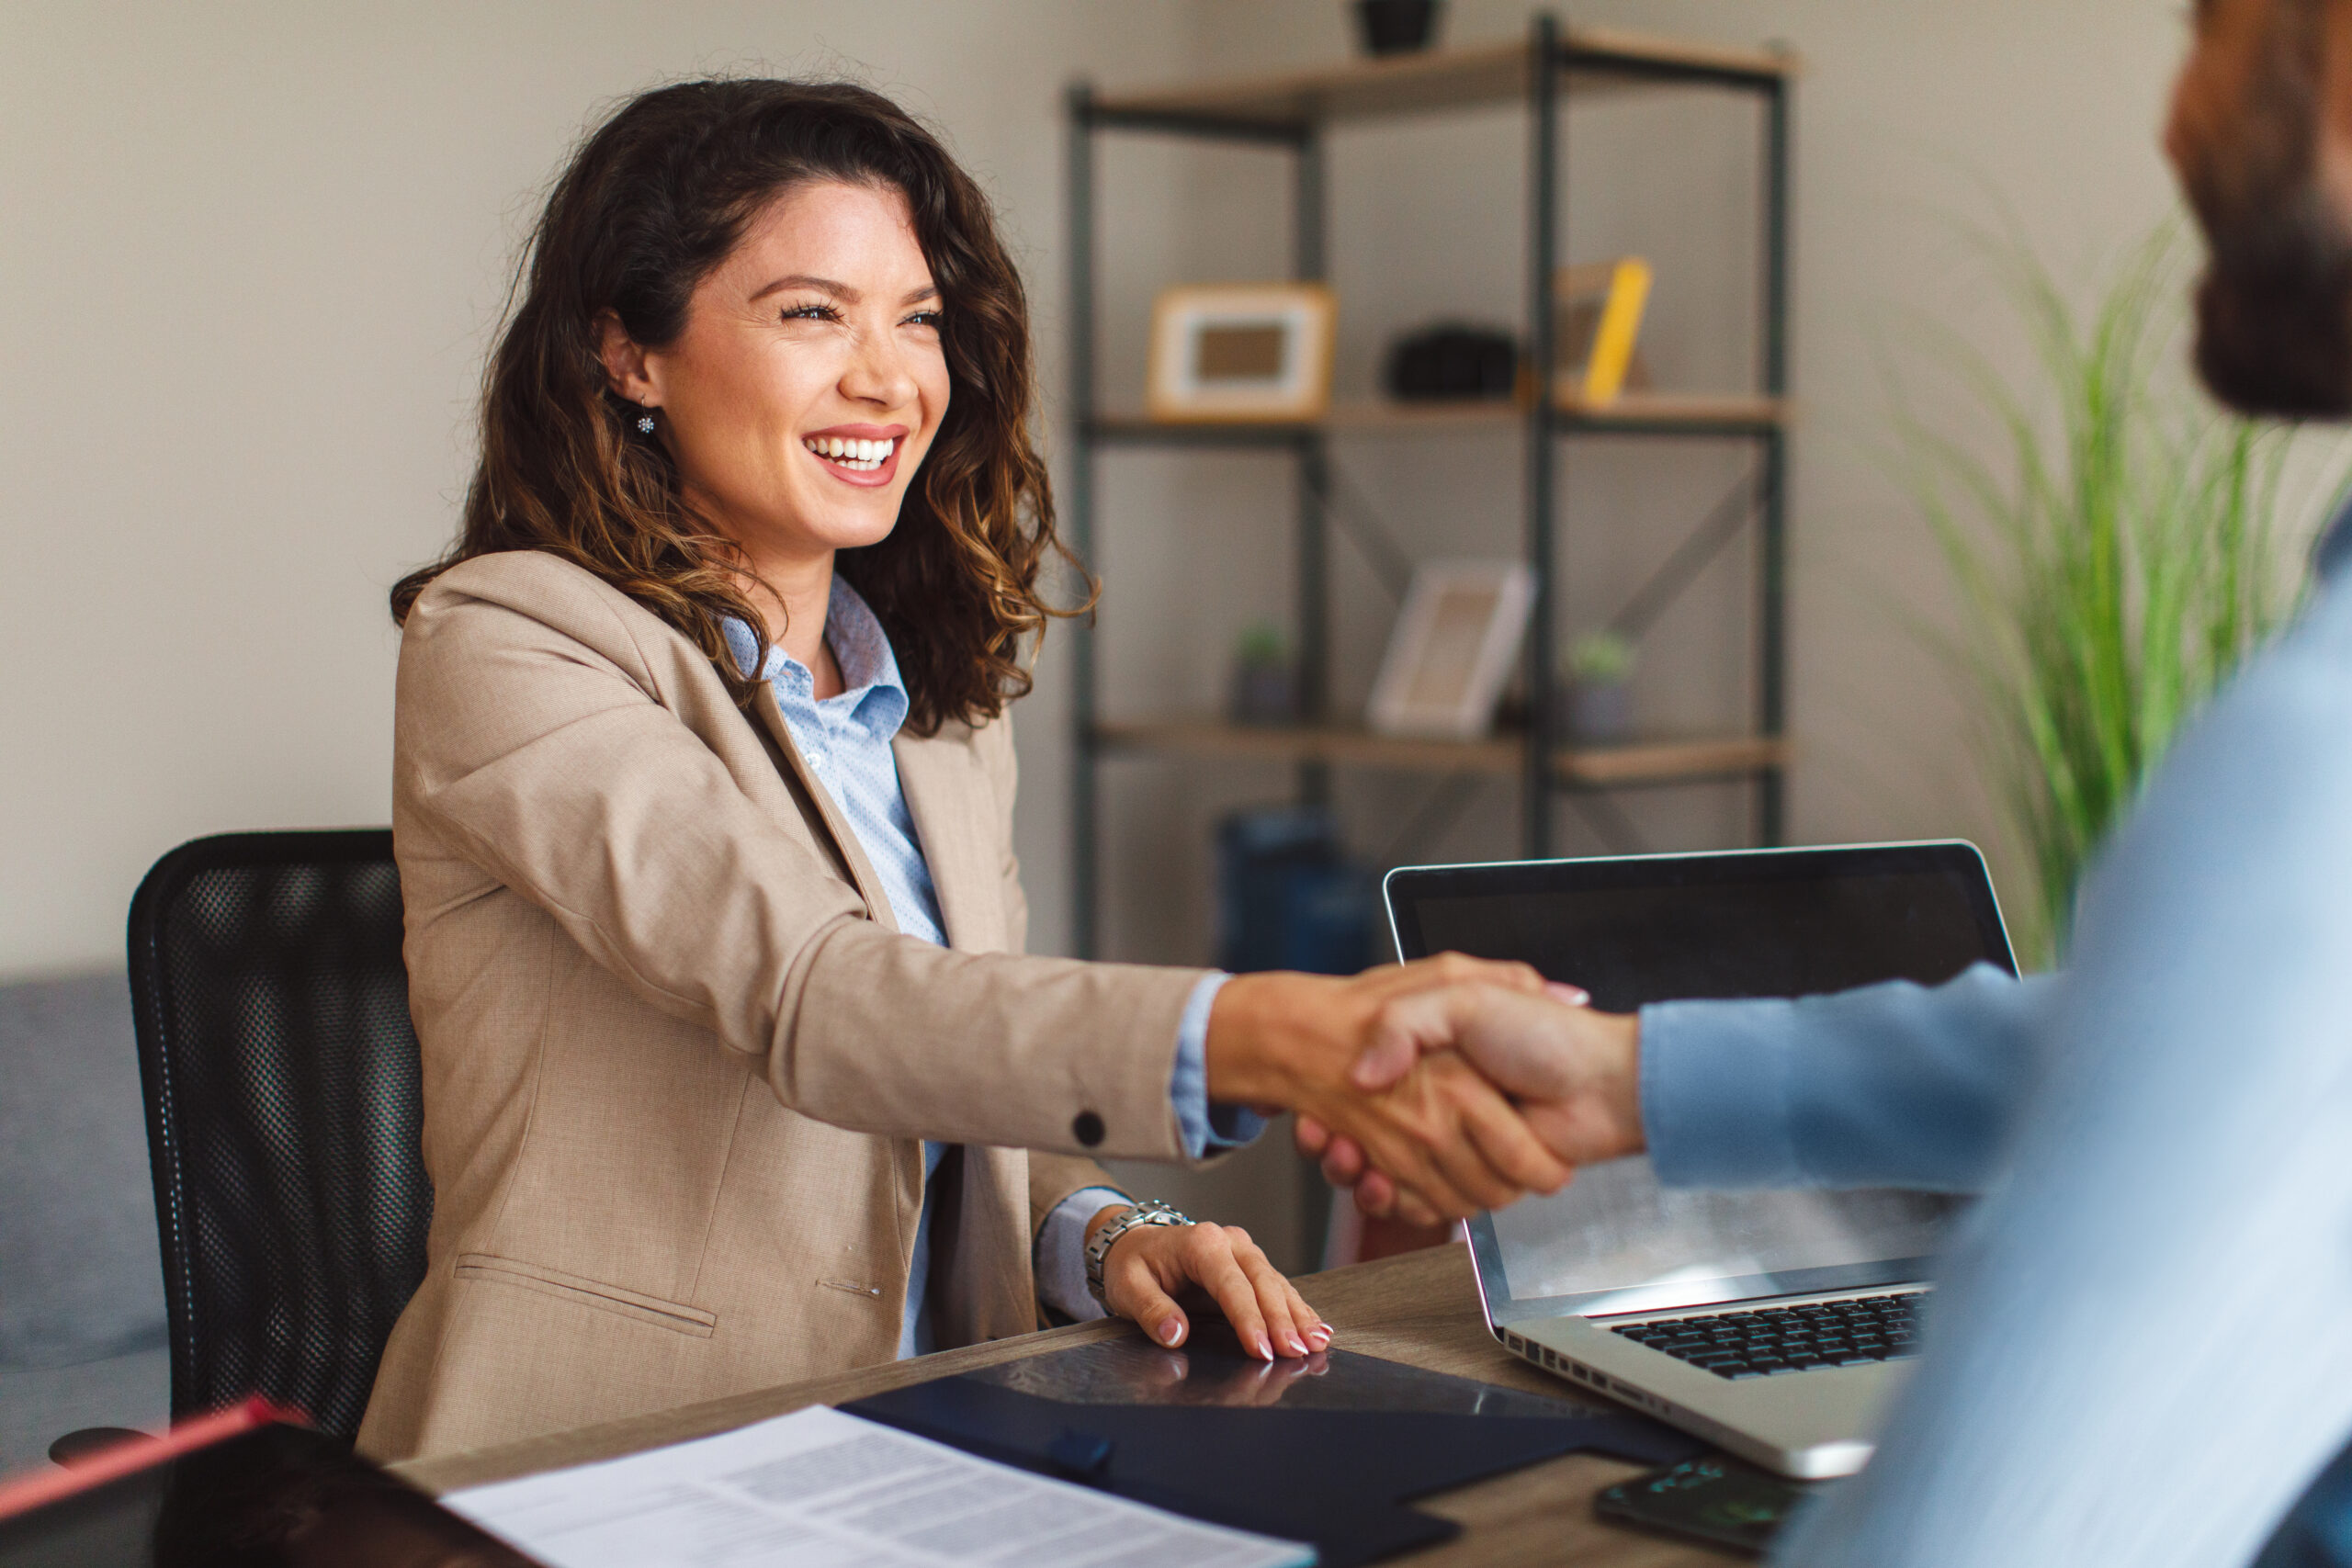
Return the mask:
[[[894,92],[1000,197],[1058,364],[1063,82],[1190,45],[1185,0],[1110,14],[0,7],[0,978],[120,961],[181,839],[388,818],[383,592],[452,531],[517,240],[600,106]]]

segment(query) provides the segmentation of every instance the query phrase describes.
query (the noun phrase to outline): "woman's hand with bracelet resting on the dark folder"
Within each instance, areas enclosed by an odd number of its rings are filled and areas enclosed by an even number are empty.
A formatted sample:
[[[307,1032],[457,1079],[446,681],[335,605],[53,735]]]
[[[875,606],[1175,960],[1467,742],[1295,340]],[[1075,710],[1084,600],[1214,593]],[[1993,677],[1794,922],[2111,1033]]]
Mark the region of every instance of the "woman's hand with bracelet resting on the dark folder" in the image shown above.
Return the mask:
[[[1087,1220],[1087,1237],[1122,1213],[1124,1206],[1101,1211]],[[1232,1324],[1242,1349],[1261,1361],[1310,1356],[1331,1345],[1331,1326],[1237,1225],[1138,1225],[1103,1258],[1103,1305],[1171,1349],[1192,1333],[1176,1295],[1195,1286]]]

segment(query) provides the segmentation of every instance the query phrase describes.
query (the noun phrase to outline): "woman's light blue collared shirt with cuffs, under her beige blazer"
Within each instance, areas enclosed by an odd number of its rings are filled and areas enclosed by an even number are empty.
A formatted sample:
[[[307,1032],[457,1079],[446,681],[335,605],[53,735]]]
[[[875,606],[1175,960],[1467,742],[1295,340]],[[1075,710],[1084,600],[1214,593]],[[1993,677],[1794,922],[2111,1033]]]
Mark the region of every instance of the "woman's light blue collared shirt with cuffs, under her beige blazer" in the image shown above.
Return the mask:
[[[760,656],[757,637],[741,621],[729,621],[727,649],[736,668],[746,675]],[[915,835],[915,818],[906,806],[906,790],[898,785],[898,759],[891,741],[906,724],[908,696],[898,677],[898,656],[875,621],[873,609],[842,578],[833,578],[833,597],[826,607],[826,646],[842,668],[840,696],[816,698],[816,679],[809,670],[769,644],[760,675],[776,693],[776,708],[793,731],[793,745],[816,780],[849,820],[858,837],[858,849],[882,879],[891,917],[903,936],[946,945],[948,926],[938,912],[938,889],[931,884],[931,865],[924,860],[922,839]],[[1207,1039],[1209,1006],[1225,976],[1204,976],[1185,1004],[1176,1039],[1176,1067],[1169,1074],[1169,1100],[1185,1140],[1185,1152],[1195,1159],[1211,1147],[1235,1147],[1263,1131],[1263,1121],[1242,1107],[1209,1105]],[[906,1319],[898,1331],[898,1354],[920,1356],[934,1349],[931,1335],[931,1211],[938,1161],[948,1145],[922,1145],[922,1218],[915,1222],[915,1255],[908,1265]],[[1110,1187],[1084,1187],[1065,1197],[1037,1232],[1037,1293],[1040,1298],[1073,1316],[1101,1316],[1101,1307],[1087,1293],[1084,1239],[1087,1220],[1110,1204],[1129,1201],[1124,1192]]]

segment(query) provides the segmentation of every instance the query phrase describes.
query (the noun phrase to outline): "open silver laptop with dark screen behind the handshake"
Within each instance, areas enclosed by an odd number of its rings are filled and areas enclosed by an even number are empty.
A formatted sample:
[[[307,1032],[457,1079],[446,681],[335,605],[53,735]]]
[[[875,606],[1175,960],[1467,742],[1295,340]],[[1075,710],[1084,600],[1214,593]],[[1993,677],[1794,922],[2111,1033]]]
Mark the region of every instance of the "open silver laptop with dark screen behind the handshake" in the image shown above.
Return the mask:
[[[1524,959],[1609,1011],[2016,973],[1959,842],[1416,865],[1383,891],[1402,957]],[[1470,1251],[1512,1354],[1813,1479],[1870,1458],[1955,1213],[1919,1192],[1665,1190],[1621,1159],[1475,1218]]]

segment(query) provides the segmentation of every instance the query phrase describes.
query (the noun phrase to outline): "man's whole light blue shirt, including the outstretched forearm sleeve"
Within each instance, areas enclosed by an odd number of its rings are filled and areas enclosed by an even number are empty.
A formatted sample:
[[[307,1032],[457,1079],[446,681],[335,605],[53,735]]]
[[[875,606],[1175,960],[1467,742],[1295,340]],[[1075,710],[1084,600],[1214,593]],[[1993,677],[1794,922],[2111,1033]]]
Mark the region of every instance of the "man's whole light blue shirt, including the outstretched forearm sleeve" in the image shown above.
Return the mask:
[[[1642,1011],[1663,1180],[1983,1192],[1877,1458],[1776,1561],[2237,1568],[2307,1488],[2265,1568],[2352,1561],[2347,557],[2150,780],[2063,976]]]

